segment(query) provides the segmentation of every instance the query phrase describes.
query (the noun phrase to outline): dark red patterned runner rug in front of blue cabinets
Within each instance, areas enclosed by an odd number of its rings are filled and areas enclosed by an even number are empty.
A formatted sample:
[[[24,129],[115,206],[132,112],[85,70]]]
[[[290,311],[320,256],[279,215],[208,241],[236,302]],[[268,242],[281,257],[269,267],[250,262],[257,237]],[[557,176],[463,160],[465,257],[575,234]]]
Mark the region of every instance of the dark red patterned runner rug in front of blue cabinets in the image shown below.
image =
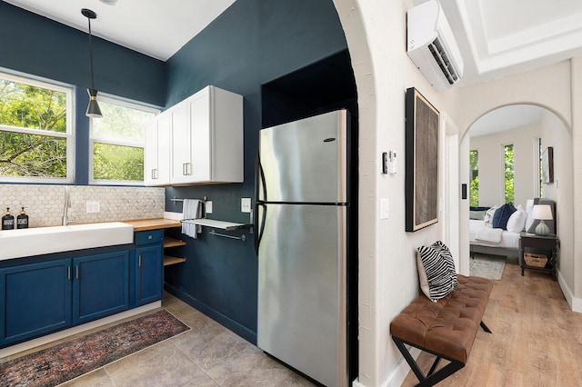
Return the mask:
[[[0,386],[55,386],[185,332],[166,310],[0,364]]]

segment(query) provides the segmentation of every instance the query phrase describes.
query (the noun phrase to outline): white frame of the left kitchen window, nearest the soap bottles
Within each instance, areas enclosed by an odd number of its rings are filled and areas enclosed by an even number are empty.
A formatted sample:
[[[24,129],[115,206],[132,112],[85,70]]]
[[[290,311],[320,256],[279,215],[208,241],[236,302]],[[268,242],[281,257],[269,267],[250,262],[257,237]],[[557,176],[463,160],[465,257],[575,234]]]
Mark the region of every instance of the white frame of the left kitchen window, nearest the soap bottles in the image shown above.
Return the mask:
[[[21,184],[74,184],[75,183],[75,86],[49,80],[30,74],[8,71],[0,68],[0,77],[17,84],[27,84],[66,95],[65,133],[50,132],[41,129],[30,129],[19,126],[0,124],[0,131],[22,134],[42,135],[46,137],[65,138],[66,142],[66,176],[39,177],[39,176],[5,176],[0,175],[0,183]]]

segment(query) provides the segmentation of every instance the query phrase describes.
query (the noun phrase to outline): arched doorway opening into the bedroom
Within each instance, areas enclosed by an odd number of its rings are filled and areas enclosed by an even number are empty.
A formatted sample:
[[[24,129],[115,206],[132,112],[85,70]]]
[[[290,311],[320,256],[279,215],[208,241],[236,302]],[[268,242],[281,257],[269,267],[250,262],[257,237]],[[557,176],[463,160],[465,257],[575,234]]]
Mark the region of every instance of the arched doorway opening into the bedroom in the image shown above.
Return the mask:
[[[468,200],[461,202],[462,222],[468,224],[468,207],[492,206],[504,203],[510,197],[515,205],[525,208],[529,198],[545,197],[557,203],[557,231],[561,244],[558,272],[566,281],[574,281],[573,252],[573,186],[572,138],[566,120],[557,112],[540,104],[507,104],[497,106],[480,115],[461,139],[461,180],[468,184]],[[512,148],[514,174],[512,184],[507,184],[504,166],[504,148]],[[540,153],[551,146],[557,157],[554,160],[556,178],[553,183],[542,184],[539,175]],[[470,157],[478,168],[478,188],[471,192],[475,180],[469,171]],[[475,166],[475,165],[474,165]],[[474,174],[474,171],[473,171]],[[508,194],[510,187],[512,192]],[[472,196],[472,197],[471,197]],[[476,200],[477,199],[477,200]],[[467,216],[465,216],[467,215]],[[468,272],[468,226],[461,227],[461,271]]]

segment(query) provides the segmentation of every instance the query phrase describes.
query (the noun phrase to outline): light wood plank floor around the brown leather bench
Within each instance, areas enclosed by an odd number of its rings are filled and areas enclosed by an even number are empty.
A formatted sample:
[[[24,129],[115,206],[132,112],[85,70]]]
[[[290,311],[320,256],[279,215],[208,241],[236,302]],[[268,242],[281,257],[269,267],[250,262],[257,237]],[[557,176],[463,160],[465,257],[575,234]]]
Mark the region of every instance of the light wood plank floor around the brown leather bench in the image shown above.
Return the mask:
[[[483,318],[493,334],[479,330],[465,368],[437,385],[582,386],[582,313],[557,282],[506,264],[495,283]],[[417,362],[426,372],[433,359],[423,352]],[[402,386],[417,382],[409,372]]]

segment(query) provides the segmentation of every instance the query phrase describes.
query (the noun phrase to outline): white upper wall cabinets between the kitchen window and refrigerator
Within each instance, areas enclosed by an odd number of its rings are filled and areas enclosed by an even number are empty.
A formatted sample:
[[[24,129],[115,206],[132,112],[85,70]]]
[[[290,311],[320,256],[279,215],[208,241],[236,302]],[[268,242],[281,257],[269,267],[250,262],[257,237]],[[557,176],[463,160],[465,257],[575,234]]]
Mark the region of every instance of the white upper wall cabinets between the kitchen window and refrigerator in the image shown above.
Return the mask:
[[[215,86],[206,88],[166,110],[170,124],[169,183],[242,183],[243,97]],[[158,117],[161,117],[160,114]],[[147,130],[151,128],[148,126]],[[146,184],[152,169],[148,160],[160,153],[146,135]],[[154,149],[156,148],[156,149]],[[151,177],[151,176],[149,176]],[[151,183],[154,182],[154,183]]]

